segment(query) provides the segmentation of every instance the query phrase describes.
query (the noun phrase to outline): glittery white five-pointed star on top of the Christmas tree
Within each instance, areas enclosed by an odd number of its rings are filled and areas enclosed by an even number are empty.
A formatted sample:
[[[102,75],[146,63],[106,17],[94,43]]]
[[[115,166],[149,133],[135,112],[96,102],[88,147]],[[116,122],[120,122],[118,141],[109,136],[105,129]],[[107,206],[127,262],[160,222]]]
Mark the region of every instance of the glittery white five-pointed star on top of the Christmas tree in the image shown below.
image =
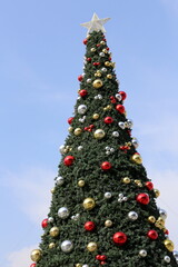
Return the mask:
[[[81,23],[81,26],[86,27],[88,29],[87,33],[90,33],[92,31],[102,31],[106,32],[103,24],[110,20],[110,18],[106,19],[99,19],[96,13],[93,13],[91,21]]]

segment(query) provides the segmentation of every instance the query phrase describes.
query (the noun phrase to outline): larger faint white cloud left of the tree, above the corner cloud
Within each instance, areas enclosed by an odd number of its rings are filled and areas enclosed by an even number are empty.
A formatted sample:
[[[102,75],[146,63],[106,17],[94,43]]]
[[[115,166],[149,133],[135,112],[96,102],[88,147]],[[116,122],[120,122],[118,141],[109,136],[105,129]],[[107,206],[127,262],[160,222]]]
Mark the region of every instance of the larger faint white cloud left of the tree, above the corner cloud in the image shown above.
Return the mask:
[[[31,168],[21,174],[9,172],[6,176],[19,208],[38,225],[49,211],[50,188],[55,185],[55,175],[49,169]]]

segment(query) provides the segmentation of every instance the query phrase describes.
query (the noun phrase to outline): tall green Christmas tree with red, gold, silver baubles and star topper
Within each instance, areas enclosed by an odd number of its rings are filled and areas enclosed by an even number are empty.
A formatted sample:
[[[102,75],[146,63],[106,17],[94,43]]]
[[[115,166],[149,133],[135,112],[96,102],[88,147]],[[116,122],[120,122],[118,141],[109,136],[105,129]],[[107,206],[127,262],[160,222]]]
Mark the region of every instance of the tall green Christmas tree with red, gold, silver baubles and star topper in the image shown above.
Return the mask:
[[[131,136],[105,22],[93,16],[83,23],[85,73],[33,267],[178,266],[167,214],[156,205],[159,191]]]

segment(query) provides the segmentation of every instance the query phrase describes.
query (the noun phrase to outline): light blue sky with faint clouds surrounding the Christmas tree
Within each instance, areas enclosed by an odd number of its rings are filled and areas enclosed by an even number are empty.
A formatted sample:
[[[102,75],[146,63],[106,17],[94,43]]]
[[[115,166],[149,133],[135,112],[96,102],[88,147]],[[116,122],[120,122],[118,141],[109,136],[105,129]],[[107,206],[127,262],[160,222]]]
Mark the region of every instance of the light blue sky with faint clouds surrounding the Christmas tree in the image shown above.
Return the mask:
[[[177,0],[7,0],[0,3],[0,266],[29,266],[68,135],[92,13],[107,41],[128,118],[178,249]]]

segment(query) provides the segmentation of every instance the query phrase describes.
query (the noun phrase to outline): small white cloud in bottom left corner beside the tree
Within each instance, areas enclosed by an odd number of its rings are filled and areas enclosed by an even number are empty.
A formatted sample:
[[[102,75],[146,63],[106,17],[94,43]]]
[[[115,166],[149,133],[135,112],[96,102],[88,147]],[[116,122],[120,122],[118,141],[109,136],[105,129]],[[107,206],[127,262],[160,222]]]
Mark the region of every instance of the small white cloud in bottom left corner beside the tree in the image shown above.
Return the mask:
[[[24,247],[20,250],[13,251],[8,255],[8,266],[9,267],[18,267],[18,266],[30,266],[31,259],[30,259],[30,253],[32,249],[38,248],[37,245]]]

